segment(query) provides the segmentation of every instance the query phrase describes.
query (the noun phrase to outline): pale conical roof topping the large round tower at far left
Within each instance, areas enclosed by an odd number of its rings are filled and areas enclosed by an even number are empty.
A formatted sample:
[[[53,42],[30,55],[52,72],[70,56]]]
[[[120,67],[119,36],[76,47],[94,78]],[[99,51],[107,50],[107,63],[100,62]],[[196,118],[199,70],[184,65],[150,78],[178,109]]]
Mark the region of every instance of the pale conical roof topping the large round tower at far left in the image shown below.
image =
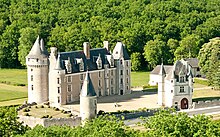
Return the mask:
[[[37,37],[27,57],[29,58],[47,57],[47,55],[45,55],[41,50],[40,43],[39,43],[39,36]]]

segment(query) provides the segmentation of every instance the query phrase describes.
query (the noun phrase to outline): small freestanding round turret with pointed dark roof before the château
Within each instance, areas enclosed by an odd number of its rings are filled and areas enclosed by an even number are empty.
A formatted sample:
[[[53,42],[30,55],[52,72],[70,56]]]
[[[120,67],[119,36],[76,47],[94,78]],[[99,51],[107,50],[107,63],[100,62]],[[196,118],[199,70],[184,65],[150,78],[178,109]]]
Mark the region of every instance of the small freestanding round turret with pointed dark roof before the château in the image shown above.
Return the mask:
[[[82,121],[95,118],[97,114],[97,96],[87,70],[80,94],[80,116]]]

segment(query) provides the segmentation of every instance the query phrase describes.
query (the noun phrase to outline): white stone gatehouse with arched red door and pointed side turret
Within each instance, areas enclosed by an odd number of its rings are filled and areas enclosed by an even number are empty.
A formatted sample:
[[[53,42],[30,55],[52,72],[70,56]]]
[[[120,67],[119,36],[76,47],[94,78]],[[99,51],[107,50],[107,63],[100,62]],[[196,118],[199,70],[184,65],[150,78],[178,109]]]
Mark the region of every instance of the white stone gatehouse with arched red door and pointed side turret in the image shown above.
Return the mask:
[[[193,75],[187,61],[177,61],[173,67],[166,70],[162,64],[158,77],[159,105],[179,109],[191,108]]]

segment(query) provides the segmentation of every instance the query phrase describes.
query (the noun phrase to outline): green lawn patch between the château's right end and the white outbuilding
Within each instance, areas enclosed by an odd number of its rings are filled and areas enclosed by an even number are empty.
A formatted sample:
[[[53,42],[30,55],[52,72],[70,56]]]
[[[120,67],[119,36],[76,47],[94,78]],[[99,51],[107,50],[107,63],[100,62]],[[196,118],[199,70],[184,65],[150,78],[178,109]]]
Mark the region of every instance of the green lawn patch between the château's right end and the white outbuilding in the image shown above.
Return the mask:
[[[131,72],[131,86],[148,85],[150,72]]]

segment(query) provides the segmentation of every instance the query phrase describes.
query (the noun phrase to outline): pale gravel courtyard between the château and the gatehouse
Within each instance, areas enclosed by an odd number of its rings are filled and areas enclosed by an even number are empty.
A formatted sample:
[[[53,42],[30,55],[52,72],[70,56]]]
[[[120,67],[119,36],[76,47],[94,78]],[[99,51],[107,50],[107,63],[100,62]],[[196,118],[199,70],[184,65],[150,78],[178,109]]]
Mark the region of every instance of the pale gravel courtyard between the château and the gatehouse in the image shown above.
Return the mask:
[[[79,113],[79,102],[62,106]],[[114,95],[98,98],[97,112],[115,112],[118,110],[137,110],[138,108],[158,108],[156,92],[133,91],[127,95]]]

